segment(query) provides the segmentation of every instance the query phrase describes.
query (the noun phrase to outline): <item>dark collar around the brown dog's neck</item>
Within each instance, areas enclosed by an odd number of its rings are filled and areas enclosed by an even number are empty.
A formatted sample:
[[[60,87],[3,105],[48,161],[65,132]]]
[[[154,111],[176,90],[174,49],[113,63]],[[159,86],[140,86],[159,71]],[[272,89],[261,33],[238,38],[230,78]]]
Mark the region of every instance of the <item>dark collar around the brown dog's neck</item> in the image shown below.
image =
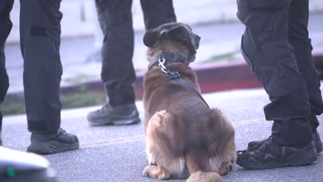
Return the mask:
[[[153,57],[153,59],[150,60],[148,70],[150,70],[153,65],[156,65],[161,57],[171,63],[182,62],[186,65],[190,63],[186,55],[182,54],[181,52],[159,52],[159,54],[157,54],[155,57]]]

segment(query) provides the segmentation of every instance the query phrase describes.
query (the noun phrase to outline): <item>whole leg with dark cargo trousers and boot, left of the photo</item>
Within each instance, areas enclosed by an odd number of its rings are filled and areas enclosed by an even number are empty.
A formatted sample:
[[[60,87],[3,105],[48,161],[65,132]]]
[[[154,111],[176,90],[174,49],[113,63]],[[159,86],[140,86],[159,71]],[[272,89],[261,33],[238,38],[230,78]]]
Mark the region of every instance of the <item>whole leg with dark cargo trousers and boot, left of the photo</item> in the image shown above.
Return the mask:
[[[59,56],[61,0],[20,1],[20,41],[28,130],[28,152],[52,154],[79,148],[77,136],[60,129]]]

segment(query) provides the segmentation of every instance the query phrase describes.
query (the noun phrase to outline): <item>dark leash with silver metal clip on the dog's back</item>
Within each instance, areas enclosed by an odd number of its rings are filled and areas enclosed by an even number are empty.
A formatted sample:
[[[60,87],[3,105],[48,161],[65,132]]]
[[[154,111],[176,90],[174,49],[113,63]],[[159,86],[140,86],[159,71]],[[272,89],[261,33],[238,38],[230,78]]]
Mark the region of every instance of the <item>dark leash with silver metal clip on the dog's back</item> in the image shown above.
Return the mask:
[[[161,61],[162,60],[162,61]],[[184,85],[184,87],[188,88],[189,90],[191,90],[192,92],[194,92],[195,94],[197,94],[197,96],[199,97],[199,99],[201,99],[206,106],[208,106],[208,103],[206,103],[206,101],[203,99],[202,95],[199,94],[199,92],[197,92],[197,90],[195,90],[195,88],[193,87],[193,85],[190,85],[190,83],[188,83],[185,79],[183,79],[178,72],[172,72],[170,71],[168,68],[165,67],[164,63],[166,62],[166,59],[164,57],[160,57],[158,59],[159,62],[159,66],[161,67],[161,71],[164,72],[165,74],[167,74],[169,79],[173,79],[175,81],[177,81],[179,84]],[[210,106],[208,106],[208,108],[210,108]]]

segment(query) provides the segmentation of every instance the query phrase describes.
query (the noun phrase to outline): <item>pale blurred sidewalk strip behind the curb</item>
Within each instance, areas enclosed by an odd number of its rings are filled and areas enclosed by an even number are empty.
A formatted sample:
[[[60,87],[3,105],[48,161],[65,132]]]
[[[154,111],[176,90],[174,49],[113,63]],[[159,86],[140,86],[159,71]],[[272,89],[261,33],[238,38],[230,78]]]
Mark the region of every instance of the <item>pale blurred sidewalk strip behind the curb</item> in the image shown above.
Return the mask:
[[[323,13],[311,14],[309,21],[310,37],[313,43],[313,54],[323,52]],[[193,30],[202,37],[197,52],[197,59],[192,63],[204,63],[213,56],[233,54],[228,59],[241,60],[239,45],[244,26],[242,23],[211,23],[193,27]],[[135,52],[133,63],[137,72],[147,69],[146,46],[142,43],[143,32],[135,34]],[[6,45],[6,66],[10,77],[9,93],[21,92],[23,60],[18,44]],[[62,39],[61,61],[63,63],[63,77],[61,86],[86,83],[100,80],[101,61],[98,59],[99,50],[94,48],[92,37]],[[225,58],[224,58],[225,59]]]

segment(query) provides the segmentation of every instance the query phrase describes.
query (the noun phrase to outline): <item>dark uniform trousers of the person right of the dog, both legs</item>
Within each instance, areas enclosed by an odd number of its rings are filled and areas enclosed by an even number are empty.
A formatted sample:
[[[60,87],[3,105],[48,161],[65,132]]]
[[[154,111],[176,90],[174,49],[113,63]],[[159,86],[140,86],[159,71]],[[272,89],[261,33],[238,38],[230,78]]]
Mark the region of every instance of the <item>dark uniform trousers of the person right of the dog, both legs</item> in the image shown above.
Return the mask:
[[[242,54],[271,100],[264,112],[274,121],[273,140],[279,145],[306,145],[319,125],[315,115],[323,111],[307,30],[309,1],[237,3],[237,16],[246,25]]]

